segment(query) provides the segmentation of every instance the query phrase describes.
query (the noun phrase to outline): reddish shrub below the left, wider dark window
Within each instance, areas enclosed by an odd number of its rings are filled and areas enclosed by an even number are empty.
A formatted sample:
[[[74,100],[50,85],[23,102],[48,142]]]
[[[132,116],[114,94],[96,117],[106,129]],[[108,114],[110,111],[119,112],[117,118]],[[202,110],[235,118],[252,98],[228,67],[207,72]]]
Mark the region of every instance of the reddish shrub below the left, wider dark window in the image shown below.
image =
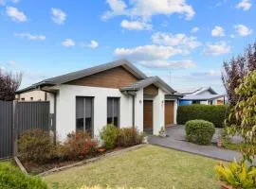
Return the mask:
[[[62,146],[64,158],[68,160],[82,160],[86,156],[93,155],[97,150],[98,143],[93,141],[86,132],[77,131],[67,135]]]

